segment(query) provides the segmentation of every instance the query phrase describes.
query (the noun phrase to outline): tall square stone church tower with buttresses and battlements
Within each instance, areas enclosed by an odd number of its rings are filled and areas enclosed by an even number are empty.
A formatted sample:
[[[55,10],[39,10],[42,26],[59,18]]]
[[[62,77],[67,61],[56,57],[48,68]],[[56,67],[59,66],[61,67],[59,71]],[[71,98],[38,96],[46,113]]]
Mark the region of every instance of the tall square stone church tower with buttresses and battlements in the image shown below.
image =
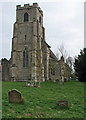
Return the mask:
[[[42,80],[44,81],[44,66],[48,76],[49,62],[43,65],[42,43],[45,41],[43,27],[43,12],[37,3],[32,6],[16,7],[16,22],[12,38],[11,80]],[[48,62],[48,63],[47,63]]]

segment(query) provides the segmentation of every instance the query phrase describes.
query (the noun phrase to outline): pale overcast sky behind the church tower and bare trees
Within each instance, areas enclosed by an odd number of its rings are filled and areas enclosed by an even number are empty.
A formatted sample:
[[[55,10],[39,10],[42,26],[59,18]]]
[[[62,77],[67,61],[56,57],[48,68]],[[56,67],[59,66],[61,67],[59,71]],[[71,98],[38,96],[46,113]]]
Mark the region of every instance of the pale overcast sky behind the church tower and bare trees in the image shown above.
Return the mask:
[[[36,1],[35,1],[36,2]],[[3,2],[0,7],[2,30],[0,29],[0,50],[3,57],[11,56],[13,23],[16,21],[16,5],[33,2]],[[64,44],[68,55],[76,56],[84,47],[84,2],[38,2],[43,10],[46,41],[56,54]],[[2,13],[2,15],[1,15]],[[0,19],[1,23],[1,19]]]

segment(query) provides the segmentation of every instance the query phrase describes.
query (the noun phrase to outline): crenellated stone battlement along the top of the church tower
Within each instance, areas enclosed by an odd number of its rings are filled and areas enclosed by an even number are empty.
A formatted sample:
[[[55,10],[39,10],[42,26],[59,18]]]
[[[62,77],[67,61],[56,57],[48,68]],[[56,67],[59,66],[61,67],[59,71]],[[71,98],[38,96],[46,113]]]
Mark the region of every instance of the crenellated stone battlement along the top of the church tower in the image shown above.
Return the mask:
[[[24,6],[21,6],[21,5],[16,6],[16,10],[22,10],[24,8],[25,9],[38,8],[39,12],[41,12],[43,14],[43,11],[41,10],[41,8],[39,7],[39,5],[37,3],[33,3],[33,5],[24,4]]]

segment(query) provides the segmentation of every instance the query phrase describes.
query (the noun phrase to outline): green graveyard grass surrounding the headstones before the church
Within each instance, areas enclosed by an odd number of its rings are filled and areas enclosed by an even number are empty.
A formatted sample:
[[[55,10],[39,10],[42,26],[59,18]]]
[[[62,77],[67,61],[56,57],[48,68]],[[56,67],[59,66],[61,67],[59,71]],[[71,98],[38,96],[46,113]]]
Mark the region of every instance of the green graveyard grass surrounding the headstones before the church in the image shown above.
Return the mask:
[[[17,89],[23,102],[9,103],[8,91]],[[68,107],[58,107],[58,100],[68,100]],[[26,87],[24,82],[2,82],[3,118],[84,118],[84,83],[43,82],[40,88]]]

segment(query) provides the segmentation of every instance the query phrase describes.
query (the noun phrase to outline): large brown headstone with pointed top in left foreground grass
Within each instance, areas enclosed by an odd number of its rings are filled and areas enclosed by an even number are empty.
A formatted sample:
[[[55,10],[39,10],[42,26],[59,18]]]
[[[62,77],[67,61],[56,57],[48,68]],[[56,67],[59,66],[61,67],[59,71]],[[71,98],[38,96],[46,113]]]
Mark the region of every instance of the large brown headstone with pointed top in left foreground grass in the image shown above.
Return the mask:
[[[9,91],[8,96],[9,96],[10,103],[11,102],[12,103],[20,103],[22,101],[21,93],[16,89]]]

